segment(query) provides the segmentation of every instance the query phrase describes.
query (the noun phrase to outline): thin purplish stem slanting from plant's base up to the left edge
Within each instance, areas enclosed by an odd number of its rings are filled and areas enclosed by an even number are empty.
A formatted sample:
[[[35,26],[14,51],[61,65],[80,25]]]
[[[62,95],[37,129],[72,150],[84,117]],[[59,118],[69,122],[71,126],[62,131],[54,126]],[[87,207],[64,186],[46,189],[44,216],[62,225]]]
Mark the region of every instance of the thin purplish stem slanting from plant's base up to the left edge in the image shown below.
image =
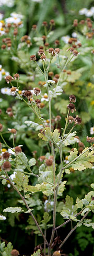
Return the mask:
[[[22,201],[25,203],[26,208],[27,208],[28,210],[30,210],[30,208],[29,208],[29,206],[28,206],[28,204],[27,204],[25,198],[21,195],[21,193],[20,193],[19,190],[17,189],[16,185],[14,185],[14,183],[10,180],[10,178],[9,178],[9,176],[8,176],[8,174],[7,174],[6,171],[5,171],[5,173],[6,173],[6,176],[7,176],[7,178],[8,178],[9,183],[13,186],[13,188],[14,188],[14,189],[16,190],[16,192],[19,194],[20,198],[21,198]],[[37,220],[34,218],[33,213],[32,213],[31,211],[30,211],[29,213],[30,213],[30,215],[32,216],[32,219],[33,219],[34,223],[37,225],[38,230],[39,230],[40,233],[42,234],[42,237],[43,237],[45,243],[48,245],[48,241],[46,240],[45,235],[43,234],[43,232],[42,232],[42,230],[41,230],[41,228],[40,228],[40,226],[39,226]]]

